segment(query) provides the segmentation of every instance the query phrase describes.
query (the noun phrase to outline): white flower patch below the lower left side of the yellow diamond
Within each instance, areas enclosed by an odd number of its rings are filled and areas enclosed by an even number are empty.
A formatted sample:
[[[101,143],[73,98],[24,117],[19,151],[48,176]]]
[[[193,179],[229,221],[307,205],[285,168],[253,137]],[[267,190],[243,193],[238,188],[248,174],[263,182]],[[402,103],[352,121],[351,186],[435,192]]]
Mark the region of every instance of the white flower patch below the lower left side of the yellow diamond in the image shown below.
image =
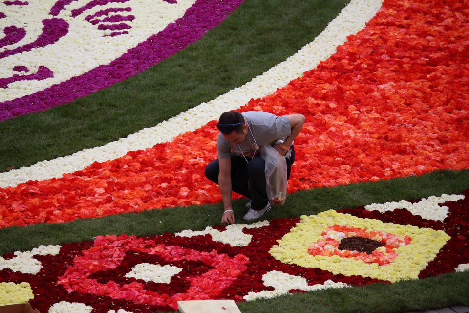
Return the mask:
[[[262,275],[262,280],[265,286],[274,287],[274,291],[260,291],[260,292],[249,292],[243,298],[246,301],[252,301],[259,298],[273,298],[282,294],[287,294],[291,289],[300,289],[304,291],[315,291],[328,288],[342,288],[347,287],[345,283],[335,283],[332,280],[327,280],[324,284],[316,284],[309,286],[301,276],[291,275],[280,271],[270,271]]]

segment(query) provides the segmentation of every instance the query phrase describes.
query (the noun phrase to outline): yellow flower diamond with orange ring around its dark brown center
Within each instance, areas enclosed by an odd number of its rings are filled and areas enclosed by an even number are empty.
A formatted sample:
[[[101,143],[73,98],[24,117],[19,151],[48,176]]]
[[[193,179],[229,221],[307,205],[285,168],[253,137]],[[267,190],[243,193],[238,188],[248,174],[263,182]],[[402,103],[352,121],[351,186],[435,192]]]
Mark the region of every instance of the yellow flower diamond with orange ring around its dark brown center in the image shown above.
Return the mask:
[[[354,237],[383,240],[386,245],[369,254],[341,249],[339,245],[330,250],[327,246],[321,249],[324,236],[333,235],[330,229],[339,229],[342,234],[354,232]],[[270,252],[282,262],[292,262],[302,267],[322,268],[344,275],[366,273],[369,277],[394,282],[417,278],[428,260],[435,257],[449,238],[441,230],[383,223],[331,210],[302,217],[301,223],[286,234],[277,246],[273,246]],[[334,241],[337,240],[328,238],[324,243],[333,246]],[[298,246],[308,246],[307,253],[303,248],[298,250]]]

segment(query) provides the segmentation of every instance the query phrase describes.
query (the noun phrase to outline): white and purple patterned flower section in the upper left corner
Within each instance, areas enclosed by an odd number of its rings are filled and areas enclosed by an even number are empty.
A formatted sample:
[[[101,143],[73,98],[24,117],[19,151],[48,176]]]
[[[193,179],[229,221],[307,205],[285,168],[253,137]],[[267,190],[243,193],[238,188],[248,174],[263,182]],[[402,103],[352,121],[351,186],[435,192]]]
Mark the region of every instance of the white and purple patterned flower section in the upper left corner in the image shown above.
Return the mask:
[[[4,1],[0,121],[123,81],[201,38],[241,2]],[[24,20],[31,16],[40,22]],[[61,62],[50,54],[59,54]]]

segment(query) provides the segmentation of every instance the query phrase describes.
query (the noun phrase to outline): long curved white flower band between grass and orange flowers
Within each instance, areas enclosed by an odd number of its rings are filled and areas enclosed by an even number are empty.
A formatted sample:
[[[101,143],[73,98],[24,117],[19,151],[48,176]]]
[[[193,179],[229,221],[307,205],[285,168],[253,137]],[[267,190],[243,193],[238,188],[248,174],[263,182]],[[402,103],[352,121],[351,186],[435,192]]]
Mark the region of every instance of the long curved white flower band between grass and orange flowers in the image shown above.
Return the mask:
[[[127,138],[0,173],[0,187],[16,186],[29,180],[59,178],[64,173],[82,170],[93,162],[112,160],[124,156],[129,151],[143,150],[158,143],[169,142],[187,131],[194,131],[218,118],[222,112],[238,109],[252,98],[271,94],[305,71],[314,69],[321,60],[329,58],[337,46],[346,41],[347,36],[360,31],[381,6],[382,0],[352,0],[313,42],[245,85],[212,101],[201,103],[154,127],[130,134]]]

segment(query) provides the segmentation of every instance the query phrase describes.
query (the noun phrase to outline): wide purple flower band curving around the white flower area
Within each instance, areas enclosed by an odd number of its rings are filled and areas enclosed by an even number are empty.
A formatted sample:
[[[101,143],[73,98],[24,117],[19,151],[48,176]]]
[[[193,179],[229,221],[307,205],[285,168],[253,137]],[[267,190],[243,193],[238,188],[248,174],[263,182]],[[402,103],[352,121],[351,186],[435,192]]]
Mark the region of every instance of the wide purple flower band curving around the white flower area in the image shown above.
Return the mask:
[[[51,9],[51,14],[57,15],[64,6],[72,1],[57,1]],[[104,2],[110,1],[124,3],[127,0],[96,0],[91,1],[84,7],[102,5]],[[170,1],[172,0],[167,0],[166,2],[171,3]],[[200,39],[208,30],[219,25],[242,2],[243,0],[197,0],[185,12],[182,18],[168,24],[165,29],[150,36],[136,47],[129,49],[127,53],[124,53],[110,64],[98,66],[83,75],[72,77],[42,91],[0,103],[0,121],[23,114],[47,110],[105,89],[117,82],[124,81]],[[90,17],[91,19],[92,17]],[[49,37],[49,39],[59,38],[58,36],[66,31],[64,25],[59,26],[61,27],[58,30],[48,32],[51,33],[49,36],[55,36]],[[44,24],[45,27],[46,24]],[[115,30],[109,36],[125,33],[125,31],[120,31],[123,30],[122,28]],[[7,52],[4,51],[3,53]],[[44,79],[48,77],[47,75],[50,75],[50,72],[38,70],[34,75],[37,77],[37,75],[41,74],[44,75],[42,77]],[[16,78],[18,79],[19,77]]]

